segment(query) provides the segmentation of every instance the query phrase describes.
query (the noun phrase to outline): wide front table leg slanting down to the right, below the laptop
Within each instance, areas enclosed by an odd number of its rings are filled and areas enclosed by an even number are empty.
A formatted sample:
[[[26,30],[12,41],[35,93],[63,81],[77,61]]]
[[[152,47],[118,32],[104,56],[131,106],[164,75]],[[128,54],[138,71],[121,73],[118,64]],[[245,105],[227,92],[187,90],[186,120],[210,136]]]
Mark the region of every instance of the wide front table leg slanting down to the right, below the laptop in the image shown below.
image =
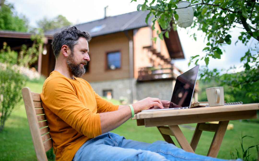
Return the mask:
[[[175,136],[177,142],[179,143],[179,145],[181,146],[181,148],[185,151],[194,153],[190,144],[188,143],[188,141],[184,137],[183,132],[179,128],[179,126],[178,125],[169,125],[169,128],[172,131],[172,133],[174,134],[174,136]]]

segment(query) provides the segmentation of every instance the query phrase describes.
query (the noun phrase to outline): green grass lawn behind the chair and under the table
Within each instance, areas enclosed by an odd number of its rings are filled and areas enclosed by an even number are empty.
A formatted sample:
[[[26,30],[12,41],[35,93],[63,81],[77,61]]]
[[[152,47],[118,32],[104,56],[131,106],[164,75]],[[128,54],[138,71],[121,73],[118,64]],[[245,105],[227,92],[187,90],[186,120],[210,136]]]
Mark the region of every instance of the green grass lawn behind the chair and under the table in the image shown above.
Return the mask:
[[[34,92],[41,92],[41,83],[28,82],[26,86],[30,87]],[[239,120],[230,121],[229,123],[234,124],[234,129],[226,131],[218,158],[231,159],[231,151],[234,152],[234,155],[236,155],[236,149],[241,152],[241,132],[243,136],[249,135],[254,137],[245,137],[243,139],[244,149],[259,143],[259,123],[240,122]],[[189,142],[191,141],[195,126],[195,124],[180,125],[181,130]],[[163,140],[156,127],[145,128],[144,126],[136,126],[135,120],[128,120],[112,132],[123,135],[127,139],[149,143],[156,140]],[[10,118],[6,121],[4,130],[0,132],[0,138],[0,160],[37,160],[23,101],[17,105]],[[212,138],[212,132],[204,131],[196,153],[206,155]],[[175,138],[173,140],[177,143]],[[179,147],[179,145],[177,146]],[[255,147],[250,149],[249,153],[251,154],[250,158],[258,157]]]

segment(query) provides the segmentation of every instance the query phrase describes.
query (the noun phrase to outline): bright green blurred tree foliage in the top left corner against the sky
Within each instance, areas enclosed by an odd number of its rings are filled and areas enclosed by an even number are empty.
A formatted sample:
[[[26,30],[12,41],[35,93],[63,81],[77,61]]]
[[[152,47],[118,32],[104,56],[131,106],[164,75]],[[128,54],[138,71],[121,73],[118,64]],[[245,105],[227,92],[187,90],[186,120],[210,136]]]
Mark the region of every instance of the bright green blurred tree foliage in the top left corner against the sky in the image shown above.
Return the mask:
[[[28,30],[28,20],[25,16],[19,18],[19,16],[17,16],[13,11],[13,5],[4,4],[2,1],[0,6],[0,30],[26,32]]]

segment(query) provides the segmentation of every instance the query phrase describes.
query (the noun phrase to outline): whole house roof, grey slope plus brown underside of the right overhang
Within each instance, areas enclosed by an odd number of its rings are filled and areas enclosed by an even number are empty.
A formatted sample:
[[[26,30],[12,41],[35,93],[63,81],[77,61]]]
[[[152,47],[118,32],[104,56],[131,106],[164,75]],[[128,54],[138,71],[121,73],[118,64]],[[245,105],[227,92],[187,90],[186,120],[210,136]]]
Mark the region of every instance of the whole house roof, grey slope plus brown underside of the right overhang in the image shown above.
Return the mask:
[[[82,23],[75,26],[81,31],[87,31],[92,37],[96,37],[109,33],[151,26],[151,19],[153,15],[151,15],[148,19],[148,24],[145,22],[148,13],[148,10],[144,12],[135,11],[117,16],[110,16],[104,19]],[[61,30],[61,28],[49,30],[45,33],[53,35],[56,31],[59,30]],[[164,40],[166,42],[166,46],[171,59],[184,58],[183,49],[177,31],[171,29],[171,31],[169,32],[169,39],[164,37]]]

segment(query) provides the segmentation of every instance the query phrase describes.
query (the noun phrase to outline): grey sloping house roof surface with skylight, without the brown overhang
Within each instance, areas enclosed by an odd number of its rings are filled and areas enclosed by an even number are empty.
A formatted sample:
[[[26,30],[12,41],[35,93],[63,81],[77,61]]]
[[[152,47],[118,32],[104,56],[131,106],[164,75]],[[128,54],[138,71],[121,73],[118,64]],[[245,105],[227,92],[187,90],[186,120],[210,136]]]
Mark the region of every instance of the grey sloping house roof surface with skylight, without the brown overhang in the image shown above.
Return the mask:
[[[109,16],[104,19],[75,25],[81,31],[87,31],[92,37],[106,35],[125,30],[131,30],[148,26],[145,22],[149,11],[135,11],[117,16]],[[149,18],[148,24],[151,23]],[[54,34],[61,29],[49,30],[45,33]]]

